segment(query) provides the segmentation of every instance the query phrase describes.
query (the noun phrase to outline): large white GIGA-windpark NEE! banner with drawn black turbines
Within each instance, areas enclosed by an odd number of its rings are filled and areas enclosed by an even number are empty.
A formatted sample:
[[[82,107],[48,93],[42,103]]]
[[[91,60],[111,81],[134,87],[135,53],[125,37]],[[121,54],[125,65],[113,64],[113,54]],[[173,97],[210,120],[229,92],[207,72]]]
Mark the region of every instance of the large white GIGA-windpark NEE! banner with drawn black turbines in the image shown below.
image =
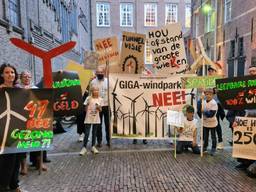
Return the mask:
[[[112,138],[166,138],[167,109],[195,103],[193,90],[182,89],[181,76],[110,74],[109,85]]]

